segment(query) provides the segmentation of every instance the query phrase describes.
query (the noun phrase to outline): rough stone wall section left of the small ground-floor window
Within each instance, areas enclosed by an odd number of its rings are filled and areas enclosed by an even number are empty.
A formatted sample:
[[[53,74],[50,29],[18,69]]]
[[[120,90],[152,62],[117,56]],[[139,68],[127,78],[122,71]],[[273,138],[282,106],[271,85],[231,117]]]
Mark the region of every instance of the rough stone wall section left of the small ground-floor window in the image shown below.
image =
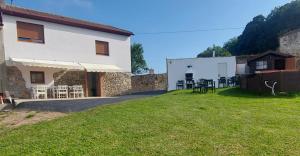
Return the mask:
[[[6,89],[9,91],[10,95],[15,98],[31,98],[30,89],[26,88],[26,83],[22,77],[21,71],[15,66],[7,66],[6,73]]]

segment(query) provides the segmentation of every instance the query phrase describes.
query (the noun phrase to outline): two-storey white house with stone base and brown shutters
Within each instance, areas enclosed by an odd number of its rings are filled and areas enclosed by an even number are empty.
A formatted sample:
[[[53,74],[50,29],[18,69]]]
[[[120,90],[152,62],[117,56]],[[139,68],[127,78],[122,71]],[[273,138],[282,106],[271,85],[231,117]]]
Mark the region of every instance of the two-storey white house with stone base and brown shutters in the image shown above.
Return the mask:
[[[34,85],[82,85],[86,96],[130,90],[132,32],[1,5],[0,93],[29,98]]]

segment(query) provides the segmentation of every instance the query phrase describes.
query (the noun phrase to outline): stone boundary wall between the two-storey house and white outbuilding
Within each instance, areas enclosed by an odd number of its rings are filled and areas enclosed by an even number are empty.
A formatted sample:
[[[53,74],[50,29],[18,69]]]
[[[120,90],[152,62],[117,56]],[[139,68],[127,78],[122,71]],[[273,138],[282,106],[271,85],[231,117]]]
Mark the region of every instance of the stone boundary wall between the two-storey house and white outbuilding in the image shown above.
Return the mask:
[[[131,85],[132,93],[167,90],[167,74],[135,75]]]

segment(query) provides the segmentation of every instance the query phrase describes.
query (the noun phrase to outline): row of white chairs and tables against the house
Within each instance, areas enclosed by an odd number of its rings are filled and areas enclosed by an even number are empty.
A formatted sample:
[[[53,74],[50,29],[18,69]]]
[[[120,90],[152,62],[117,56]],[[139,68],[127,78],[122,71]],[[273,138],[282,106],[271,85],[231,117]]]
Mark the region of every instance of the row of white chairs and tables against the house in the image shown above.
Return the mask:
[[[58,85],[48,87],[47,85],[36,85],[32,87],[33,99],[62,99],[62,98],[83,98],[82,85]]]

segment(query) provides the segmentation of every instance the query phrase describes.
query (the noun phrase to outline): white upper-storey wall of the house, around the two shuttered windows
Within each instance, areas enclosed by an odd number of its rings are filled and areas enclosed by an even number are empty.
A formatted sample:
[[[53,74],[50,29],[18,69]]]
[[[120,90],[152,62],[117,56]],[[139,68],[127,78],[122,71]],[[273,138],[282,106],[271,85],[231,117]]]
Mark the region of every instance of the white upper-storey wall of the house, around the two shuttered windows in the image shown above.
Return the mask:
[[[44,25],[45,44],[20,42],[16,21]],[[130,37],[3,15],[5,58],[117,65],[131,71]],[[95,40],[109,42],[109,56],[96,55]]]

